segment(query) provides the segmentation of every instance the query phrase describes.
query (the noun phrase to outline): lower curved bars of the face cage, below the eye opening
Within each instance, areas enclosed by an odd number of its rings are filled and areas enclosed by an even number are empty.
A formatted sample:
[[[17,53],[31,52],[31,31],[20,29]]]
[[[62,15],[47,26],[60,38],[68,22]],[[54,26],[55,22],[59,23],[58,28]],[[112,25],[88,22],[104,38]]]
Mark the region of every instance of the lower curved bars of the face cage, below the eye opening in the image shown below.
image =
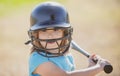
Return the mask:
[[[58,40],[64,40],[64,39],[68,39],[68,44],[66,44],[66,45],[63,45],[63,46],[60,46],[59,44],[58,44]],[[70,46],[70,43],[71,43],[71,36],[69,35],[69,36],[65,36],[65,37],[62,37],[62,38],[58,38],[58,39],[37,39],[37,38],[35,38],[35,37],[33,37],[32,38],[32,45],[33,45],[33,47],[36,49],[36,51],[38,51],[38,53],[39,54],[41,54],[41,55],[43,55],[43,56],[45,56],[45,57],[57,57],[57,56],[62,56],[67,50],[68,50],[68,48],[69,48],[69,46]],[[40,48],[40,47],[37,47],[34,43],[33,43],[33,41],[38,41],[39,43],[41,42],[41,41],[46,41],[46,46],[45,46],[45,48]],[[54,42],[56,42],[56,44],[58,45],[58,47],[57,48],[51,48],[51,49],[47,49],[46,47],[47,47],[47,44],[48,44],[48,42],[49,41],[54,41]],[[62,42],[61,41],[61,42]],[[40,43],[41,44],[41,43]],[[46,51],[46,50],[55,50],[55,49],[57,49],[58,50],[58,53],[50,53],[50,52],[48,52],[48,51]],[[61,52],[61,49],[65,49],[63,52]],[[40,52],[44,52],[45,53],[45,55],[44,54],[42,54],[42,53],[40,53]]]

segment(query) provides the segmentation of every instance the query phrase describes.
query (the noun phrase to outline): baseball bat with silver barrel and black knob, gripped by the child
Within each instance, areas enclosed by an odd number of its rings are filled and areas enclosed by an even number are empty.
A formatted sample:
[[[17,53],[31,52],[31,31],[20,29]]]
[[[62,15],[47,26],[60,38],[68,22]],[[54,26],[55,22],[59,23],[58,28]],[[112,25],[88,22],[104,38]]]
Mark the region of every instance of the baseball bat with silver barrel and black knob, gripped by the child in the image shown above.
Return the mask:
[[[80,52],[80,53],[82,53],[83,55],[85,55],[87,58],[90,57],[90,54],[89,54],[87,51],[85,51],[85,50],[83,50],[82,48],[80,48],[79,45],[78,45],[77,43],[75,43],[74,41],[71,41],[71,47],[72,47],[72,49],[77,50],[78,52]],[[95,63],[97,63],[97,60],[93,60],[93,61],[94,61]],[[104,66],[104,72],[105,72],[105,73],[109,74],[109,73],[112,72],[112,70],[113,70],[113,67],[112,67],[111,64],[108,64],[108,65],[105,65],[105,66]]]

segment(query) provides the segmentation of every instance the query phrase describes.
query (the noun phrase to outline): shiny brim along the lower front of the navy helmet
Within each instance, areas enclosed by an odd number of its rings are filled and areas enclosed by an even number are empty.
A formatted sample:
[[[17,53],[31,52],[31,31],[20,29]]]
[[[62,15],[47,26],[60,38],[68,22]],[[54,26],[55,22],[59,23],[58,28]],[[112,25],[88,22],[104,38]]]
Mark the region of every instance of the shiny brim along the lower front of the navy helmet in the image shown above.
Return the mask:
[[[61,23],[61,24],[53,24],[53,25],[39,25],[39,24],[35,24],[34,26],[32,26],[30,28],[30,30],[35,31],[35,30],[39,30],[39,29],[43,29],[43,28],[54,28],[54,27],[67,28],[67,27],[70,27],[70,24],[69,23]]]

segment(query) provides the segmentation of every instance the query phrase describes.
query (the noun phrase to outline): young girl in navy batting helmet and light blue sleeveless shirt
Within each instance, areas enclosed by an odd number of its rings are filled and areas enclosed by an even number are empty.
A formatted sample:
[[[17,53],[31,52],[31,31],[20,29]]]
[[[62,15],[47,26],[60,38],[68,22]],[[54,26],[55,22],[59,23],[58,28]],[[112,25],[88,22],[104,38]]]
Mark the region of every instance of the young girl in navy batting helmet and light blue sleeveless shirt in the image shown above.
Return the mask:
[[[29,59],[29,76],[95,76],[107,61],[97,55],[89,57],[88,68],[75,70],[69,47],[73,29],[67,10],[55,2],[44,2],[31,13],[28,31],[33,47]],[[95,64],[92,60],[97,59]]]

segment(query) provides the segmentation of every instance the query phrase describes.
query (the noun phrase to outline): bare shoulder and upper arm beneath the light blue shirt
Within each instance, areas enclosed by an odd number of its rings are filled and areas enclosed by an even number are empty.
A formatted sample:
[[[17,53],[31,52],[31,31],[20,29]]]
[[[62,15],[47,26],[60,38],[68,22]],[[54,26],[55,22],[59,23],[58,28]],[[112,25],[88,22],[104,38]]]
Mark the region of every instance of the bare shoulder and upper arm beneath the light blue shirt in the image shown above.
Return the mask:
[[[44,64],[39,65],[33,73],[42,76],[66,76],[67,74],[52,62],[45,62]]]

